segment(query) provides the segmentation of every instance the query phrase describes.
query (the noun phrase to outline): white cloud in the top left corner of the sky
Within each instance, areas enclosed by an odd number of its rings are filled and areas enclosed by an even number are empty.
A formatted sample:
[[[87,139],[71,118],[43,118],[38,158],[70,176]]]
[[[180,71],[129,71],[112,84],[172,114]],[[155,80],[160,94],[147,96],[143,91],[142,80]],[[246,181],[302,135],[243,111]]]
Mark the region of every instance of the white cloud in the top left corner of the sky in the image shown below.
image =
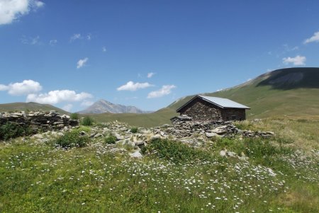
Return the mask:
[[[38,0],[0,0],[0,25],[10,24],[32,9],[36,11],[44,3]]]

